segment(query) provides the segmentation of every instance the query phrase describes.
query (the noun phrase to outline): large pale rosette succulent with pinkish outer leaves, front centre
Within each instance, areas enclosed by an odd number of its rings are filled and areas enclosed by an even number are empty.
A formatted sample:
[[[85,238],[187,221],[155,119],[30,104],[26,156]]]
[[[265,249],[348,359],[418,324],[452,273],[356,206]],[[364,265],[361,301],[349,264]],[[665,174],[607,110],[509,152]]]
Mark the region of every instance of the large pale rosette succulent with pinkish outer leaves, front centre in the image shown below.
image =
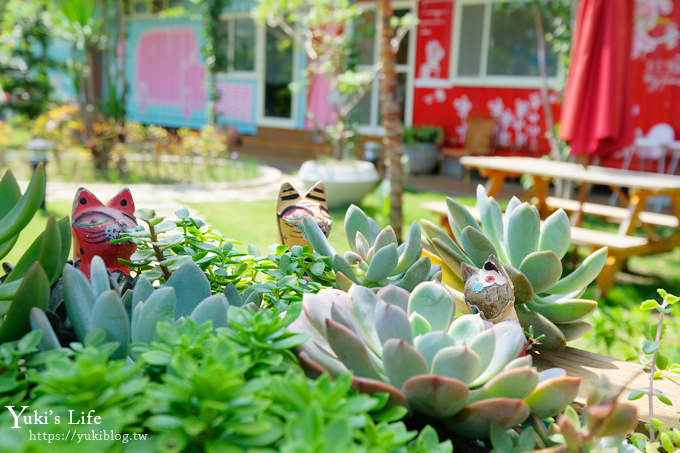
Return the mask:
[[[580,378],[556,368],[539,373],[531,356],[520,356],[525,339],[517,322],[454,314],[452,295],[437,282],[410,294],[354,285],[305,294],[290,329],[311,337],[299,348],[310,372],[350,370],[358,389],[388,392],[393,404],[464,436],[485,436],[492,422],[517,425],[530,413],[554,415],[576,396]]]

